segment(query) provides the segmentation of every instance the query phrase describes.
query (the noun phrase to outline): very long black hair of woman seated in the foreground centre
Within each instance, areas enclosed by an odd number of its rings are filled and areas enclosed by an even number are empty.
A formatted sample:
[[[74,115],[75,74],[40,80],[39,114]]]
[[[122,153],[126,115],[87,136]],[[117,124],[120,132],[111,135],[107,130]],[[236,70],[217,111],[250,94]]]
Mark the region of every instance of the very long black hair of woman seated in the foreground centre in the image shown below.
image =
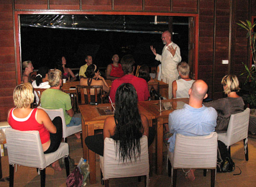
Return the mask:
[[[138,97],[134,86],[121,84],[116,91],[116,128],[113,139],[119,143],[119,157],[122,161],[131,160],[140,155],[140,137],[143,129],[138,110]]]

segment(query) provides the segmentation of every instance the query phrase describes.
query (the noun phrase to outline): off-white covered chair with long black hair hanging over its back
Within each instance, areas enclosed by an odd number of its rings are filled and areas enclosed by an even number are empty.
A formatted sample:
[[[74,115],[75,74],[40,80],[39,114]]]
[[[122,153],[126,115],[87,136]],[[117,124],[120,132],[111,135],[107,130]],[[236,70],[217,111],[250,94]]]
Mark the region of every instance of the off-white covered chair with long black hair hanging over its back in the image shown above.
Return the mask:
[[[104,139],[104,156],[100,156],[100,169],[105,186],[109,186],[110,178],[146,176],[145,186],[149,186],[150,165],[148,161],[147,137],[143,135],[140,139],[141,153],[136,162],[132,160],[123,163],[119,161],[119,152],[116,153],[115,141],[112,138]],[[140,178],[139,178],[140,179]]]

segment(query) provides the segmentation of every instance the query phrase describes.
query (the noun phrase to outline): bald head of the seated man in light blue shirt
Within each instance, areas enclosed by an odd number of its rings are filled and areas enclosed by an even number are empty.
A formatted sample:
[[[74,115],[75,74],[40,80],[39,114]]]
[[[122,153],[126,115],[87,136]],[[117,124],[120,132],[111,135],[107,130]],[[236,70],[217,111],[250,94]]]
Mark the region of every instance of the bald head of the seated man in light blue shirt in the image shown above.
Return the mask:
[[[203,100],[207,97],[207,90],[208,85],[203,80],[197,80],[192,84],[189,95],[197,100]]]

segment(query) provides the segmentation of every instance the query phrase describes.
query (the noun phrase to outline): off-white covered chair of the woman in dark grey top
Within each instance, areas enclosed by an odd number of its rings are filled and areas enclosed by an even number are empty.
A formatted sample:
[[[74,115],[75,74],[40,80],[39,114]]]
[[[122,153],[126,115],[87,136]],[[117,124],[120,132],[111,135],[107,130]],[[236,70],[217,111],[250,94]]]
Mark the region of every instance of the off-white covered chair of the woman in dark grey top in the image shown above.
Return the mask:
[[[230,146],[244,140],[245,159],[248,161],[248,128],[249,128],[250,109],[246,108],[243,112],[230,116],[227,132],[218,133],[218,140],[227,146],[230,154]],[[231,155],[231,154],[230,154]]]

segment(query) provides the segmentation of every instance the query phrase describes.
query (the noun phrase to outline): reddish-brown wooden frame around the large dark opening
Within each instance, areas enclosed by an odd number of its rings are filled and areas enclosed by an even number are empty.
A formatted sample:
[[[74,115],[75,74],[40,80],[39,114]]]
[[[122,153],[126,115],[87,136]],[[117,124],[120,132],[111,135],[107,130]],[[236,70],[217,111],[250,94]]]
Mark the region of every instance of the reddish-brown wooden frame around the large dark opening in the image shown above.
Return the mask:
[[[194,59],[193,59],[193,71],[195,73],[195,79],[198,78],[198,48],[199,48],[199,14],[191,14],[191,13],[157,13],[157,12],[108,12],[108,11],[67,11],[67,10],[58,10],[58,11],[46,11],[46,10],[37,10],[37,11],[14,11],[14,36],[15,36],[15,63],[16,63],[16,82],[20,84],[22,82],[22,66],[20,62],[20,23],[19,23],[19,15],[21,14],[95,14],[95,15],[157,15],[157,16],[185,16],[185,17],[194,17],[195,20],[195,28],[194,28],[194,41],[195,41],[195,51],[194,51]]]

